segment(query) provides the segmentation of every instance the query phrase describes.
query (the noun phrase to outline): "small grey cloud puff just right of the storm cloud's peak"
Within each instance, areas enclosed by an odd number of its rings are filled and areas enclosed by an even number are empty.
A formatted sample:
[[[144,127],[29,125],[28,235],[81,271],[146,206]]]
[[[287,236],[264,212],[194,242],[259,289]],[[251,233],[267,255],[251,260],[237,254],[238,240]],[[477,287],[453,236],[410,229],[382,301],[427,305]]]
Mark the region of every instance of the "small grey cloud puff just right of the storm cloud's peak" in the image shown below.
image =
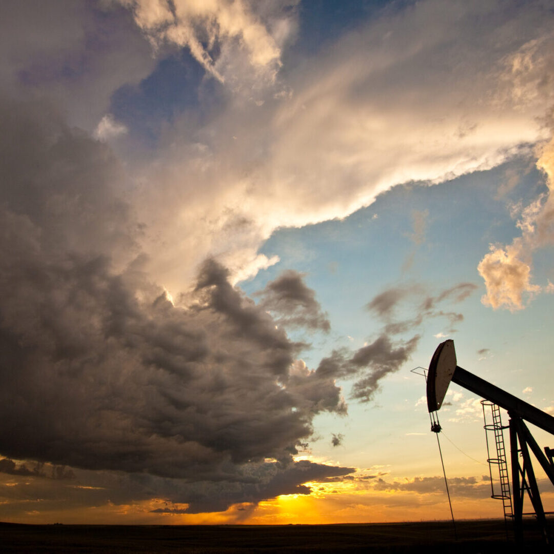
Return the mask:
[[[277,315],[281,325],[320,329],[329,332],[331,324],[315,299],[314,290],[304,283],[304,275],[297,271],[283,271],[265,289],[258,293],[260,306]]]

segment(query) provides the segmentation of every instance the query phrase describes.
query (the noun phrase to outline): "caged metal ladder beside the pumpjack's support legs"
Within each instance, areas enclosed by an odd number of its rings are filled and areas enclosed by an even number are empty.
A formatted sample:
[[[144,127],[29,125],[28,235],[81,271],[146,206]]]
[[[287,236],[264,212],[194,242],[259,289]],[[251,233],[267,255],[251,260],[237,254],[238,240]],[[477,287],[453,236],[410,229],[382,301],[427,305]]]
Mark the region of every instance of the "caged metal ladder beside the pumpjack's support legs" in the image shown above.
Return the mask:
[[[492,493],[491,498],[502,500],[502,508],[504,509],[504,520],[507,522],[514,517],[514,510],[512,508],[512,495],[510,491],[510,476],[508,474],[508,466],[506,462],[506,448],[504,447],[504,429],[507,429],[507,425],[502,425],[500,407],[497,404],[494,404],[493,402],[490,402],[488,400],[482,400],[481,405],[483,406],[483,418],[485,420],[484,428],[486,437],[486,450],[488,456],[487,461],[489,463],[490,486]],[[490,407],[492,423],[488,423],[485,406]],[[496,458],[492,458],[490,455],[490,432],[494,433]],[[494,489],[493,465],[496,465],[498,468],[500,491],[495,491]]]

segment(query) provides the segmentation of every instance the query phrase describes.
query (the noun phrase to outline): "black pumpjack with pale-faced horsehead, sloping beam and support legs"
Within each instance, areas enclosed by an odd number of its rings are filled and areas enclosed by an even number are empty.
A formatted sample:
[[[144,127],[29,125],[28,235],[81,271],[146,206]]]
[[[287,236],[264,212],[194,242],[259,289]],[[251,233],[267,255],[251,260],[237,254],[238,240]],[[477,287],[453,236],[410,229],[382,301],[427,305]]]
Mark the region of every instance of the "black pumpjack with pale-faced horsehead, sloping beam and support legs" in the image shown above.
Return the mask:
[[[554,450],[546,447],[543,454],[525,421],[554,435],[554,417],[459,367],[456,362],[454,341],[451,339],[439,344],[429,364],[427,376],[427,407],[429,413],[440,409],[450,381],[497,404],[508,412],[510,418],[510,460],[515,539],[518,543],[523,541],[523,502],[525,493],[527,493],[535,510],[543,538],[550,545],[552,538],[548,533],[546,514],[529,450],[535,455],[538,463],[541,464],[552,485],[554,485],[554,463],[552,461]]]

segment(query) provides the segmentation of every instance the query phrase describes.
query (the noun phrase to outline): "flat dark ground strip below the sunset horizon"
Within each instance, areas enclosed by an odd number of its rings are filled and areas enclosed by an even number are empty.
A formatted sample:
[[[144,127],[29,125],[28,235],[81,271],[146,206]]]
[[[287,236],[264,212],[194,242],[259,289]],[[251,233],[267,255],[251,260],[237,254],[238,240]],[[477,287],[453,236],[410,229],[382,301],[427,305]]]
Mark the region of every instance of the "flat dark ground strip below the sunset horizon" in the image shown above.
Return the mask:
[[[345,525],[22,525],[0,523],[0,551],[44,553],[238,554],[354,552],[485,554],[552,552],[525,522],[525,547],[506,539],[503,520]],[[550,520],[552,535],[554,521]]]

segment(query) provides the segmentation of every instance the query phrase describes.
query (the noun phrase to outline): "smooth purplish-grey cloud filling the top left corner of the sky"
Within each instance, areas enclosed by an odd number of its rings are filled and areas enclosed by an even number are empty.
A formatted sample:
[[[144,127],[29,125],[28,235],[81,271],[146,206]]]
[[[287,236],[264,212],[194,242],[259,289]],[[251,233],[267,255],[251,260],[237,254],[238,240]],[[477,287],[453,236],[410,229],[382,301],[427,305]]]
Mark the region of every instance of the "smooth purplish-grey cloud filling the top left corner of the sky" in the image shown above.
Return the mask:
[[[0,83],[14,98],[47,97],[93,131],[114,90],[152,71],[151,48],[112,2],[33,0],[0,6]]]

